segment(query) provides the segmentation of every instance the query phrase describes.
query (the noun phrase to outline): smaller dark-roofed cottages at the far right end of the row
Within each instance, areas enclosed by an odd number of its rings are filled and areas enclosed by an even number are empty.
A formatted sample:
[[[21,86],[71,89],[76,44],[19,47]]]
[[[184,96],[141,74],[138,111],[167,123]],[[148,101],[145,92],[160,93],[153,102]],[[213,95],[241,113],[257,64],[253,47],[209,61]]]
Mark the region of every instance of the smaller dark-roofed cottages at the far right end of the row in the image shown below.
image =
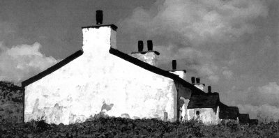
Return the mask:
[[[199,89],[204,89],[205,84],[199,84],[199,78],[192,77],[192,84]],[[197,119],[206,125],[216,123],[239,123],[241,125],[257,125],[257,119],[250,119],[249,114],[240,114],[238,107],[229,107],[220,102],[219,93],[211,92],[208,86],[207,93],[192,93],[190,102],[186,107],[185,120]]]

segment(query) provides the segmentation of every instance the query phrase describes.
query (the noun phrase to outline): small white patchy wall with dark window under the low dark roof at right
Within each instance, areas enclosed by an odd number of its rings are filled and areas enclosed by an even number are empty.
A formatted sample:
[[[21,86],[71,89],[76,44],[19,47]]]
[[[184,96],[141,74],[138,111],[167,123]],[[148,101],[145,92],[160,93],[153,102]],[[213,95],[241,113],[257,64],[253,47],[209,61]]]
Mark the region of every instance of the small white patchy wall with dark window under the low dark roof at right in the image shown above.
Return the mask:
[[[188,120],[197,119],[196,112],[199,111],[199,121],[202,121],[204,125],[217,125],[220,122],[219,119],[219,107],[214,112],[212,108],[197,108],[187,109]]]

